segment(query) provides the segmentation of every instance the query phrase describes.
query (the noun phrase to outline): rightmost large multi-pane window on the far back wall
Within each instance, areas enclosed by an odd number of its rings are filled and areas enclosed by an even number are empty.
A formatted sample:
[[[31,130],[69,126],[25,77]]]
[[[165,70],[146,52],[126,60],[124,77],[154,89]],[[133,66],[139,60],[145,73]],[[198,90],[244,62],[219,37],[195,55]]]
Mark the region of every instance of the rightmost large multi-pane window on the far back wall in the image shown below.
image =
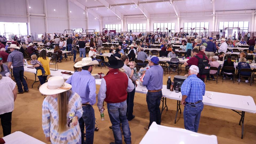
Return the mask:
[[[240,27],[240,31],[248,32],[249,22],[219,22],[219,31],[224,30],[226,27],[231,29]]]

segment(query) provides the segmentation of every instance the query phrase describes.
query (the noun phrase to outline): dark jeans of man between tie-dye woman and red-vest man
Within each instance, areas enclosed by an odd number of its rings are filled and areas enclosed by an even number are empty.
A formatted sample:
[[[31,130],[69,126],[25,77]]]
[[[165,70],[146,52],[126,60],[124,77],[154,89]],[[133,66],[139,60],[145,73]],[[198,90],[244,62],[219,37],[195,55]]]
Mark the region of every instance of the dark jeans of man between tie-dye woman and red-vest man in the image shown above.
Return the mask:
[[[82,144],[83,143],[93,144],[94,129],[95,129],[94,109],[91,105],[82,106],[82,109],[83,109],[83,115],[78,120],[80,130],[81,130]],[[86,129],[86,136],[84,135],[85,129]]]

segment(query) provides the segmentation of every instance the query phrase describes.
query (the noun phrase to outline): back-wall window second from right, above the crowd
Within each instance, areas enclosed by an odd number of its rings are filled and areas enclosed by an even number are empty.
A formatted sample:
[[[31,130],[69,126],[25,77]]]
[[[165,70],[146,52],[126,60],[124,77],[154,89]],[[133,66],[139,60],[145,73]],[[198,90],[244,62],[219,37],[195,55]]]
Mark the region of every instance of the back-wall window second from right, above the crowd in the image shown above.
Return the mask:
[[[184,22],[184,32],[204,33],[209,30],[209,22]]]

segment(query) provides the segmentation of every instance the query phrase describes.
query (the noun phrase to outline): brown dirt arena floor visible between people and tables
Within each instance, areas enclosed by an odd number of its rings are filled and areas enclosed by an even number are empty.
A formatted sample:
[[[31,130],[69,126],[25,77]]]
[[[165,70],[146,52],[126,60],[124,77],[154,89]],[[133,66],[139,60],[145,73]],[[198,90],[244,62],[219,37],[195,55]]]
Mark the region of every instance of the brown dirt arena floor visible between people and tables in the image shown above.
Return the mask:
[[[88,56],[88,55],[87,55]],[[79,54],[77,55],[79,57]],[[28,62],[30,64],[30,61]],[[58,68],[62,70],[73,70],[73,59],[62,60],[62,63],[58,63]],[[107,73],[108,69],[99,67],[93,69],[92,73]],[[184,75],[184,70],[182,74]],[[39,83],[35,83],[32,88],[31,85],[34,81],[34,74],[25,72],[27,77],[27,83],[29,86],[29,93],[18,94],[15,101],[15,106],[12,114],[12,133],[15,131],[22,131],[40,141],[45,141],[45,135],[42,130],[42,102],[43,96],[39,93],[37,86]],[[172,72],[170,75],[166,74],[163,77],[163,84],[166,85],[168,76],[171,79],[177,75]],[[49,77],[48,77],[49,78]],[[14,78],[12,78],[14,79]],[[97,93],[99,85],[96,85]],[[221,77],[219,77],[218,84],[215,81],[208,81],[206,83],[206,90],[216,91],[221,93],[230,93],[238,95],[250,95],[256,100],[255,94],[256,84],[250,86],[248,83],[233,83],[233,81],[226,80],[222,83]],[[220,99],[221,100],[221,99]],[[230,99],[232,101],[232,99]],[[162,103],[161,103],[162,105]],[[160,105],[160,106],[161,106]],[[177,123],[174,124],[174,118],[176,113],[177,101],[167,99],[168,111],[164,110],[162,114],[161,125],[170,127],[184,128],[183,121],[183,106],[181,106],[182,113],[178,113]],[[94,143],[105,144],[114,141],[113,132],[109,129],[111,122],[107,111],[105,114],[105,121],[100,120],[100,113],[98,107],[93,106],[95,110],[95,117],[97,118],[97,124],[99,131],[94,133]],[[149,112],[147,110],[146,94],[135,93],[134,97],[134,115],[135,118],[129,121],[131,130],[132,143],[139,143],[143,136],[146,134],[144,126],[149,124]],[[237,143],[256,143],[256,114],[245,113],[244,122],[244,138],[241,139],[241,126],[239,125],[240,115],[233,112],[230,109],[218,108],[213,106],[205,106],[200,119],[198,133],[216,135],[218,143],[223,144],[237,144]],[[2,126],[0,126],[0,137],[3,137]],[[160,137],[159,137],[160,138]],[[170,138],[174,138],[171,137]],[[47,143],[47,142],[46,142]],[[124,143],[124,141],[123,141]]]

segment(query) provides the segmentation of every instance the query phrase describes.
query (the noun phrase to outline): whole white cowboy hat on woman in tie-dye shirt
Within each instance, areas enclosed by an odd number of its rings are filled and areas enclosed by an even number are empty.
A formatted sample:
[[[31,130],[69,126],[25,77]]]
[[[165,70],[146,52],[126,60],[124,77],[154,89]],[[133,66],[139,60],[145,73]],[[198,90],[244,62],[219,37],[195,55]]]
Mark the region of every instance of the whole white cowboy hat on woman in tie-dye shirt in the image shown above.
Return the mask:
[[[64,82],[63,77],[54,76],[50,77],[48,82],[44,83],[39,88],[39,91],[45,95],[54,95],[68,91],[71,88],[72,86],[70,84]]]

